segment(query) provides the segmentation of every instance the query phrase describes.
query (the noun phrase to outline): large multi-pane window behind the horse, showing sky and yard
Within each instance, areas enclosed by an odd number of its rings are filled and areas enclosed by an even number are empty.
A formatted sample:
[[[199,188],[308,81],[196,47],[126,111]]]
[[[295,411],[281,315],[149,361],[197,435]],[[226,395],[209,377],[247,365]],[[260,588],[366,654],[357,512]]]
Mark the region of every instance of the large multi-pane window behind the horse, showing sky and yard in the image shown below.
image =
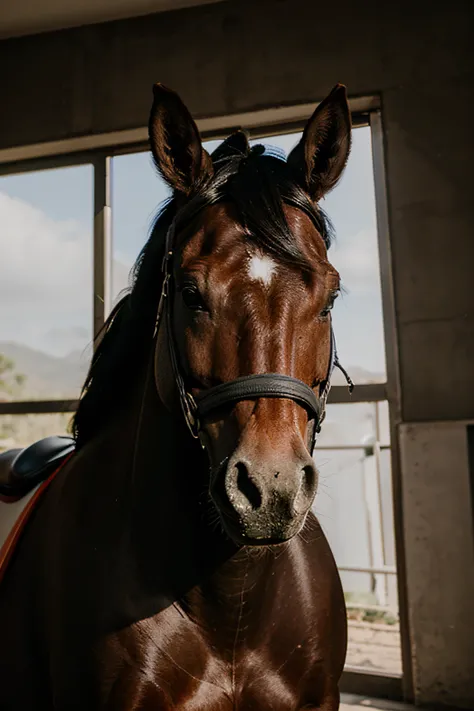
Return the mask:
[[[390,374],[375,211],[373,116],[357,118],[344,176],[322,203],[336,233],[329,258],[343,284],[333,311],[339,357],[360,387],[350,397],[344,378],[335,372],[315,452],[320,488],[314,511],[345,591],[348,667],[397,675],[401,660],[389,426],[396,403],[386,399]],[[300,124],[264,139],[258,138],[259,130],[251,127],[253,143],[279,146],[286,153],[301,135]],[[218,143],[208,141],[206,147],[212,151]],[[95,172],[84,164],[0,178],[0,221],[6,225],[0,244],[7,255],[0,264],[0,448],[66,431],[67,412],[73,409],[91,353],[93,294],[105,303],[109,296],[112,303],[117,301],[168,195],[151,154],[143,146],[135,153],[130,150],[101,150],[94,158]],[[92,205],[94,191],[96,203],[104,198],[106,204],[109,157],[113,239],[110,262],[102,264],[97,247],[110,237],[109,226],[104,219],[98,227],[96,219],[93,229]],[[100,214],[100,205],[96,212]],[[104,273],[111,268],[110,294],[104,293],[107,279],[97,277],[102,268]],[[18,402],[22,400],[29,401],[23,408]],[[52,400],[57,402],[41,402]],[[59,414],[53,413],[55,406]]]

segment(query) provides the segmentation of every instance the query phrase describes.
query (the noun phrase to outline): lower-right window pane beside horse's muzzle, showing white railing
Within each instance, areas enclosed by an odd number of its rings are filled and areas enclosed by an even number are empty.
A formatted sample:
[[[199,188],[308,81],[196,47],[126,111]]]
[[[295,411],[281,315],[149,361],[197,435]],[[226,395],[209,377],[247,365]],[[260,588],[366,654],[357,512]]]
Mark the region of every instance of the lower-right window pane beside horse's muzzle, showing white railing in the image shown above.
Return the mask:
[[[382,405],[328,406],[314,454],[320,482],[313,511],[340,569],[349,620],[347,665],[401,674],[397,578],[367,572],[395,567],[387,410]],[[377,427],[377,420],[383,426]]]

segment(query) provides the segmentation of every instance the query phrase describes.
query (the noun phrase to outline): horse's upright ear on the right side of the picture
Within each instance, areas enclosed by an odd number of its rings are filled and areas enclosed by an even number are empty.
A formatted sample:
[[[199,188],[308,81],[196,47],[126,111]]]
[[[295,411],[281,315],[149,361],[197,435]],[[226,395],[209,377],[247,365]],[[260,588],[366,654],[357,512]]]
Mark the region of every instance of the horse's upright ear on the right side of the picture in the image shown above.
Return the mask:
[[[351,114],[346,87],[337,84],[309,119],[288,156],[301,187],[317,202],[342,175],[351,147]]]

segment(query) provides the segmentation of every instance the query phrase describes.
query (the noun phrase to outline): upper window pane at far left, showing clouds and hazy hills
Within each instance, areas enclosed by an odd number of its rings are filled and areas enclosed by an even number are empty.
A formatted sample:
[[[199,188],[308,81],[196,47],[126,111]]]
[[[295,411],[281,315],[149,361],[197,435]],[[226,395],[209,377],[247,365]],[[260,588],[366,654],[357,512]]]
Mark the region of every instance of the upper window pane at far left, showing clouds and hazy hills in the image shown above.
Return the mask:
[[[0,178],[0,399],[79,394],[92,339],[92,197],[90,165]]]

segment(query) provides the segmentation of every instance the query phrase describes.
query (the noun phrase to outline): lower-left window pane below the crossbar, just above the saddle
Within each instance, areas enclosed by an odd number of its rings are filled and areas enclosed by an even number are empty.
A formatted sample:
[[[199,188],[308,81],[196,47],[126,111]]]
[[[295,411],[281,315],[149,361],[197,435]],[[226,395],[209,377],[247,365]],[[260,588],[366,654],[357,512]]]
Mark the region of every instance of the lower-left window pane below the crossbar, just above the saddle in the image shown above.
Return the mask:
[[[48,415],[0,415],[0,452],[28,447],[43,437],[68,435],[72,413]]]

